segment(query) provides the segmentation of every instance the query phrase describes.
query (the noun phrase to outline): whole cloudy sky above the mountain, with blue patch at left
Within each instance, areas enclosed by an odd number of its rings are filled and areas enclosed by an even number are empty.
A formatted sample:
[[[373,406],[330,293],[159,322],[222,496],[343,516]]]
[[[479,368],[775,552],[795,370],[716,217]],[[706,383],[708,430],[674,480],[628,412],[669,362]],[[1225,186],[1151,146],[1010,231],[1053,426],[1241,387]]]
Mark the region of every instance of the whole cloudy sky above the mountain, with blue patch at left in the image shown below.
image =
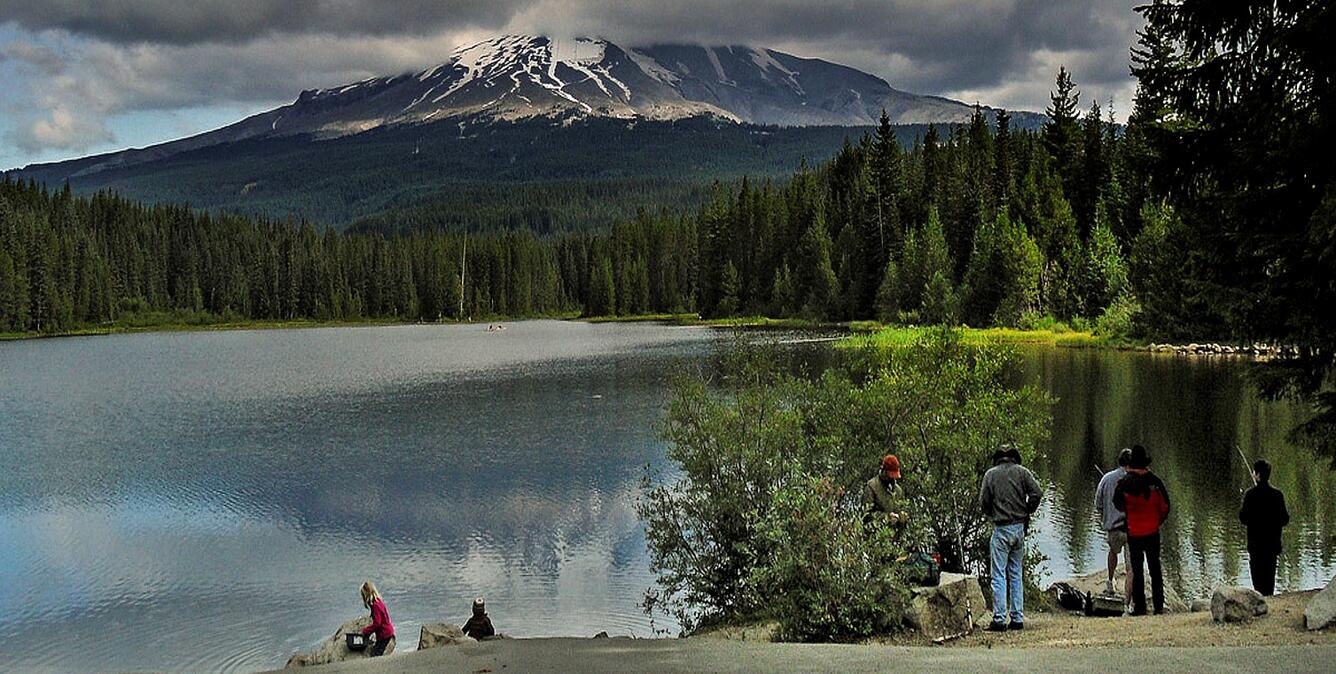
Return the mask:
[[[500,33],[752,44],[1042,111],[1058,66],[1125,119],[1140,0],[0,0],[0,168],[170,140]]]

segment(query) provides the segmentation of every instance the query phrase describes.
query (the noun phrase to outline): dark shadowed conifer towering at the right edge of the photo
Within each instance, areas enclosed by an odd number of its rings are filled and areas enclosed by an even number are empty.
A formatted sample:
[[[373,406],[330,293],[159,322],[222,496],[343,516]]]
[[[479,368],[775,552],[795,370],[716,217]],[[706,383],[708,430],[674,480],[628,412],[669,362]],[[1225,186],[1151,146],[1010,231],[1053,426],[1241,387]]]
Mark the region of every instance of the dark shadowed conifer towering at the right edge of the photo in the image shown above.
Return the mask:
[[[1178,214],[1142,242],[1145,324],[1293,345],[1257,381],[1336,465],[1336,3],[1140,11],[1128,140]]]

